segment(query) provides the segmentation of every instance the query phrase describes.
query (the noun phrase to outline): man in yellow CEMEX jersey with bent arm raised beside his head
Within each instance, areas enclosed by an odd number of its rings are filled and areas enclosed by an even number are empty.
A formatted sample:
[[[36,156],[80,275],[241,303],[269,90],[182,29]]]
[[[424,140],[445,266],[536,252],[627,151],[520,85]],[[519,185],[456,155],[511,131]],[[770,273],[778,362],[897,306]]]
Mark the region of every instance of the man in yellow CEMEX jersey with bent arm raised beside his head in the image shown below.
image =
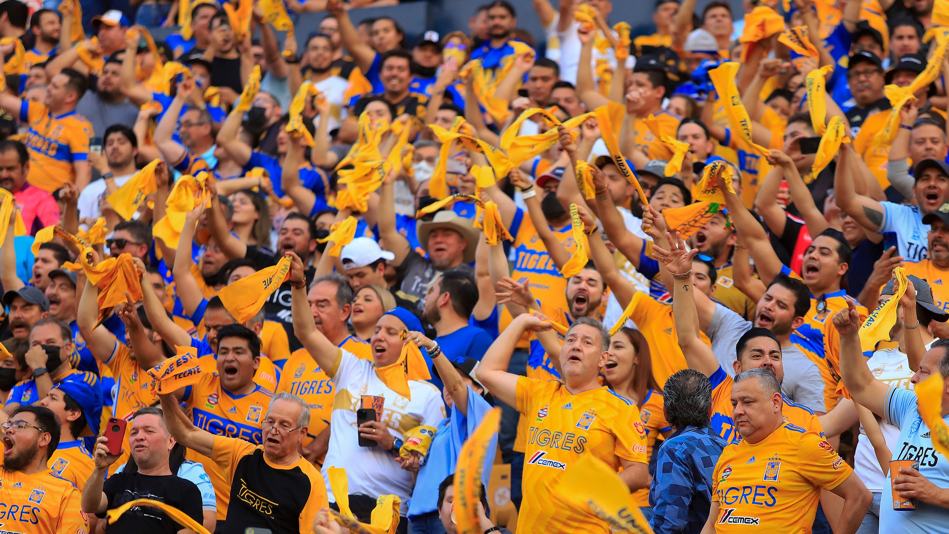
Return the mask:
[[[529,418],[524,501],[518,525],[529,532],[608,533],[608,523],[561,502],[550,488],[582,454],[593,454],[617,470],[623,467],[620,476],[630,489],[647,486],[646,435],[640,410],[600,385],[598,375],[606,361],[609,332],[596,319],[580,317],[568,330],[558,355],[564,382],[507,372],[521,334],[550,328],[541,316],[518,315],[477,369],[482,384]]]

